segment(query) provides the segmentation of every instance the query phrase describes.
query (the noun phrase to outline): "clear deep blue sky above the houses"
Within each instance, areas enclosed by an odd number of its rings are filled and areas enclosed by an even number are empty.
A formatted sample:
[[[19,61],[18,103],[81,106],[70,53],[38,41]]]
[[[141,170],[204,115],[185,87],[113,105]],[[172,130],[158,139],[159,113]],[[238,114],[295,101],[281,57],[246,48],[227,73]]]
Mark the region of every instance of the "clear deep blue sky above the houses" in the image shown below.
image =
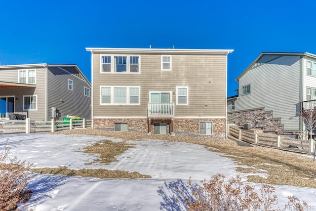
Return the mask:
[[[315,0],[2,0],[1,65],[77,64],[85,47],[234,49],[228,96],[263,51],[316,53]]]

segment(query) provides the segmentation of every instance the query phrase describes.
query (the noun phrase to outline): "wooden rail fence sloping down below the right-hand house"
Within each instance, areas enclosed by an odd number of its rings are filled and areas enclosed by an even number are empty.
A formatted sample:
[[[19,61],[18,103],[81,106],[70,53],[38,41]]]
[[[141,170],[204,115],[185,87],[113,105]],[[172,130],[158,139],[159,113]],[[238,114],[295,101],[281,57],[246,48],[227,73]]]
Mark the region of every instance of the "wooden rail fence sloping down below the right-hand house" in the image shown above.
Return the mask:
[[[230,135],[250,144],[311,155],[314,154],[315,140],[313,139],[290,139],[281,136],[255,134],[232,126],[229,126],[228,128],[228,133]]]

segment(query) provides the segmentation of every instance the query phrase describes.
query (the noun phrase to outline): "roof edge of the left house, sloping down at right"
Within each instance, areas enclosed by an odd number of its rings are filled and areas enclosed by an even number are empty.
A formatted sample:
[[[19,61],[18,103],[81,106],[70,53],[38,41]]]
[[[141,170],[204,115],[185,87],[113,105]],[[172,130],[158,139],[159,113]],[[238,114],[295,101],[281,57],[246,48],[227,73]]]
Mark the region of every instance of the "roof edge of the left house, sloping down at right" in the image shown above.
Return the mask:
[[[40,63],[40,64],[19,64],[19,65],[0,65],[0,70],[1,69],[16,69],[16,68],[36,68],[36,67],[59,67],[62,70],[70,73],[70,74],[75,74],[75,72],[78,72],[79,75],[82,76],[82,79],[86,81],[90,86],[91,83],[89,80],[85,77],[85,75],[81,72],[79,67],[76,64],[47,64],[47,63]]]

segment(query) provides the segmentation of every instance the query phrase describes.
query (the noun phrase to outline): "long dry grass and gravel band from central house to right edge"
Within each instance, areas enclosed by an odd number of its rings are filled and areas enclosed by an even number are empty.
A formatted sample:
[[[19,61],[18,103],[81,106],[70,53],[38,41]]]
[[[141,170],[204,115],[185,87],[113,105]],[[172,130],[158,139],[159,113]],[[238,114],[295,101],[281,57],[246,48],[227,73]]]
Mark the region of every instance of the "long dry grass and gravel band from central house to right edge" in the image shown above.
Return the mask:
[[[265,147],[240,147],[232,140],[205,139],[178,134],[175,136],[171,136],[169,134],[148,135],[147,133],[142,132],[116,132],[90,128],[55,132],[55,134],[58,133],[102,135],[129,140],[150,138],[200,144],[210,147],[210,150],[212,151],[226,154],[225,157],[235,160],[239,165],[253,168],[247,168],[246,170],[238,168],[237,170],[246,173],[263,172],[268,175],[267,178],[253,175],[248,176],[248,181],[250,182],[316,188],[316,162],[313,162],[311,156],[300,155],[298,153],[291,153]]]

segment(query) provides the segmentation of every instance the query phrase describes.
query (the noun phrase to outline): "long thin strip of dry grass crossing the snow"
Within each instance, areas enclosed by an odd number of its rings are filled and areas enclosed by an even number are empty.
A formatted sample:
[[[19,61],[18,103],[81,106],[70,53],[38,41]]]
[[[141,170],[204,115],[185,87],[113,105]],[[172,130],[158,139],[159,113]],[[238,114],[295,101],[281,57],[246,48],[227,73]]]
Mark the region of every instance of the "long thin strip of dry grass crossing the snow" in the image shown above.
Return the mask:
[[[39,168],[33,169],[36,173],[63,174],[68,176],[84,176],[98,178],[150,178],[150,175],[140,174],[138,172],[128,172],[125,170],[109,170],[109,169],[68,169],[67,167],[58,168]]]

